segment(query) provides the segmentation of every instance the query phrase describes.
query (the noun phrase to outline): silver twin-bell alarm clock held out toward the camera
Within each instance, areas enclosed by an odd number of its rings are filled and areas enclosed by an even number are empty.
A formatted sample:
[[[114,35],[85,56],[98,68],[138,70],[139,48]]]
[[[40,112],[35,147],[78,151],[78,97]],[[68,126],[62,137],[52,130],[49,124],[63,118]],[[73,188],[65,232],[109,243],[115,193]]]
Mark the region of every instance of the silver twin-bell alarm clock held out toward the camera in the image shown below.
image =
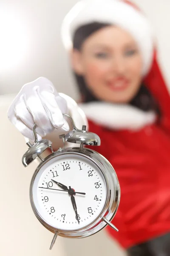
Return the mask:
[[[54,233],[50,250],[57,236],[83,238],[91,236],[111,223],[119,206],[120,186],[113,166],[101,154],[84,145],[100,145],[97,134],[76,128],[61,134],[63,148],[54,152],[51,141],[37,140],[34,124],[34,143],[23,155],[26,167],[37,157],[41,160],[30,184],[30,201],[34,214],[41,224]],[[80,144],[66,148],[65,142]],[[51,154],[43,158],[47,148]]]

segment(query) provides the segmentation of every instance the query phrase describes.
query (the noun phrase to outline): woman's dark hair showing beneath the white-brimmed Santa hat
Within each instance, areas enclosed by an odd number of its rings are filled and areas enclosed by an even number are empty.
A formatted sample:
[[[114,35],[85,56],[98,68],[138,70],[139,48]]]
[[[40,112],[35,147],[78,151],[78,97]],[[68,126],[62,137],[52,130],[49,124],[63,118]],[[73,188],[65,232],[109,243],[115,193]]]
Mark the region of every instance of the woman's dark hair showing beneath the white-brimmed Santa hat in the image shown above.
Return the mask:
[[[85,39],[87,39],[90,35],[98,31],[99,29],[105,28],[107,26],[111,26],[111,24],[92,22],[92,23],[88,23],[83,26],[80,26],[74,33],[73,48],[80,51]],[[82,95],[83,102],[99,101],[99,99],[97,99],[93,95],[93,93],[88,89],[85,83],[84,77],[79,76],[75,72],[74,72],[74,76],[77,81],[77,85],[79,87],[79,92]],[[137,108],[143,111],[154,110],[160,115],[159,106],[157,105],[150,91],[147,89],[147,87],[143,83],[141,84],[141,87],[138,93],[129,102],[129,104],[136,106]]]

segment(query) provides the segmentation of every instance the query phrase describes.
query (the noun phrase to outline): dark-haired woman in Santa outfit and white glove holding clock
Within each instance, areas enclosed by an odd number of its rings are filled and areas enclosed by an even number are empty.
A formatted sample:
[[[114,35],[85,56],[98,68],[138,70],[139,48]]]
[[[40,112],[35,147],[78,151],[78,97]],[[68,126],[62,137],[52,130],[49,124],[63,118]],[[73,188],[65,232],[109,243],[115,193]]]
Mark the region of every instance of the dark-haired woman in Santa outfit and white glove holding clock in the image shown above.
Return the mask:
[[[89,131],[101,138],[95,149],[114,166],[121,186],[113,219],[119,232],[108,231],[130,256],[169,255],[170,96],[150,26],[127,1],[84,0],[65,17],[62,36],[79,106]],[[33,140],[35,122],[37,133],[53,141],[54,128],[69,129],[62,112],[86,121],[81,109],[40,78],[22,87],[8,118],[25,137]]]

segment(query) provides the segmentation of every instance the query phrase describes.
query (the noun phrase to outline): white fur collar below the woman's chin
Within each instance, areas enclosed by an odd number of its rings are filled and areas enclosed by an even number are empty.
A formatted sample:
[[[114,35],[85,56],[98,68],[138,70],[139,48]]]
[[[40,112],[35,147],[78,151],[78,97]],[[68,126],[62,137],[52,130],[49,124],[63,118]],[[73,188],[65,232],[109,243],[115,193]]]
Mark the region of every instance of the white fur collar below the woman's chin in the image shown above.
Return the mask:
[[[114,130],[139,130],[156,121],[154,112],[144,112],[130,105],[90,102],[79,104],[79,107],[88,119]]]

